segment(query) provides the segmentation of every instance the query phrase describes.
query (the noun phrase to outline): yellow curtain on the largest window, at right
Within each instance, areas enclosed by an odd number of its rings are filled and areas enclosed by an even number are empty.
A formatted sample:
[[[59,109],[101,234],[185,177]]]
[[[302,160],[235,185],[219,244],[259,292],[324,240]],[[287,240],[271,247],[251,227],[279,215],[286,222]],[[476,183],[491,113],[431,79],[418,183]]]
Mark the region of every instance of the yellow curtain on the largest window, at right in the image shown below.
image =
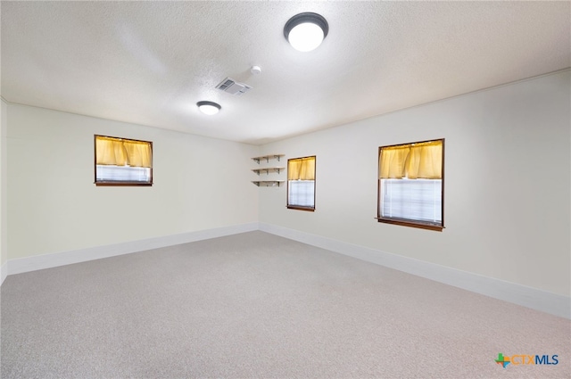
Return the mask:
[[[379,154],[380,179],[441,179],[442,169],[442,140],[384,147]]]

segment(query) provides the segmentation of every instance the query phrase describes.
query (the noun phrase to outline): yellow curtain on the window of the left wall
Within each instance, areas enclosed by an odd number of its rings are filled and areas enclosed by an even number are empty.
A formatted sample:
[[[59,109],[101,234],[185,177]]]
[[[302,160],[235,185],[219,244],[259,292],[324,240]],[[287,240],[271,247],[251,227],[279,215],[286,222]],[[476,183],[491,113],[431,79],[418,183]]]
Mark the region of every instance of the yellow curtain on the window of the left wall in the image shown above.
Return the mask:
[[[95,162],[101,165],[151,168],[151,143],[95,136]]]

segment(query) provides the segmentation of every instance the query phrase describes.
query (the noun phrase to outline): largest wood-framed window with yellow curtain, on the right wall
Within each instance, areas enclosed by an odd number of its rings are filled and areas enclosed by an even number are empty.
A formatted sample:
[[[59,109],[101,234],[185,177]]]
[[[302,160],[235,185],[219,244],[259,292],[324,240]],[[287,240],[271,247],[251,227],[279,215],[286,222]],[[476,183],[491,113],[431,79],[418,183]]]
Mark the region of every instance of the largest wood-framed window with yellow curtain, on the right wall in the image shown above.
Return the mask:
[[[379,222],[442,231],[444,139],[381,146]]]

